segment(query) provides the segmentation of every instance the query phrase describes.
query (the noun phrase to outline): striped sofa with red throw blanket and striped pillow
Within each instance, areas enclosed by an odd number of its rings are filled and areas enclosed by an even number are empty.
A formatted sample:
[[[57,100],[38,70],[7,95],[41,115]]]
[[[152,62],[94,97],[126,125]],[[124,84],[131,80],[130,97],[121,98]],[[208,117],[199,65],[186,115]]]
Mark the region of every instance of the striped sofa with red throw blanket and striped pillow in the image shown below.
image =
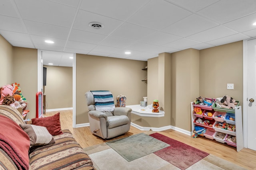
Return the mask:
[[[0,169],[95,169],[69,130],[51,135],[47,127],[24,123],[17,109],[5,105],[0,105],[0,129]]]

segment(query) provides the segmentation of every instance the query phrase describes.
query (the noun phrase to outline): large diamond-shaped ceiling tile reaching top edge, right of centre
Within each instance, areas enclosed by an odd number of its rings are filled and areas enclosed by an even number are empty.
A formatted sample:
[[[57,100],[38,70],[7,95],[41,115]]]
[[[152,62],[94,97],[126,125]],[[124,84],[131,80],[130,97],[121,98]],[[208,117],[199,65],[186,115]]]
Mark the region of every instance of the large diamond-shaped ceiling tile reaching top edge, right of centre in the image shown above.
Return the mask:
[[[161,30],[190,14],[192,13],[166,1],[152,0],[134,14],[128,22]]]

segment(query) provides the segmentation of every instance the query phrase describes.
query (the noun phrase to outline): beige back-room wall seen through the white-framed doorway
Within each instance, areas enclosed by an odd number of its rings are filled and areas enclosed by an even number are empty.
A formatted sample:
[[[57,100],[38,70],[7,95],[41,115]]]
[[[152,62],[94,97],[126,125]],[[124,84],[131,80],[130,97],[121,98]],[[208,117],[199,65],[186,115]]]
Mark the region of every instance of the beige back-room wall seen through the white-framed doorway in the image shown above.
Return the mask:
[[[46,109],[72,107],[72,67],[44,66],[47,68]]]

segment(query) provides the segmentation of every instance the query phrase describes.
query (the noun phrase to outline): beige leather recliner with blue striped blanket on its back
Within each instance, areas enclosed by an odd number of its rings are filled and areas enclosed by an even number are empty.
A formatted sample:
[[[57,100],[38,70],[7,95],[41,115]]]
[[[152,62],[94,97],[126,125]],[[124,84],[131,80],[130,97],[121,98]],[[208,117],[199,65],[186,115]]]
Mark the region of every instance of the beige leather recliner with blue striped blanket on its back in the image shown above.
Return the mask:
[[[103,139],[122,135],[130,130],[131,111],[128,107],[115,107],[109,91],[85,93],[90,131]]]

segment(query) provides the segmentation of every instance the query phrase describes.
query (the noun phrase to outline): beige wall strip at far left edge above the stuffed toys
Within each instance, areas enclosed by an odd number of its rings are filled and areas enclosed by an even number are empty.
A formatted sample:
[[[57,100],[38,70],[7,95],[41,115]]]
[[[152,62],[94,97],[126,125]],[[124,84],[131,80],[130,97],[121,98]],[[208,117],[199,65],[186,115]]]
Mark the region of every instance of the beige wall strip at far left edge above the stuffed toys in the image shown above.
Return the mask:
[[[0,63],[1,63],[1,76],[0,87],[6,84],[13,83],[13,50],[12,45],[0,35]]]

